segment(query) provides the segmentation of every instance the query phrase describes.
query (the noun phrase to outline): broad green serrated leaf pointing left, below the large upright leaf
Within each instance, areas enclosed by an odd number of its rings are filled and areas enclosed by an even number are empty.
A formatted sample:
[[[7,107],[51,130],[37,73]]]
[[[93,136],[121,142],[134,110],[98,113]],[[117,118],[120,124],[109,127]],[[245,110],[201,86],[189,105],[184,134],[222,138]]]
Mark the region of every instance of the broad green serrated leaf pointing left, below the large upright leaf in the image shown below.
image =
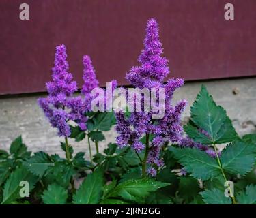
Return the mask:
[[[186,172],[190,172],[191,176],[208,180],[220,174],[220,168],[216,159],[199,149],[177,149],[171,147],[177,160],[184,166]]]

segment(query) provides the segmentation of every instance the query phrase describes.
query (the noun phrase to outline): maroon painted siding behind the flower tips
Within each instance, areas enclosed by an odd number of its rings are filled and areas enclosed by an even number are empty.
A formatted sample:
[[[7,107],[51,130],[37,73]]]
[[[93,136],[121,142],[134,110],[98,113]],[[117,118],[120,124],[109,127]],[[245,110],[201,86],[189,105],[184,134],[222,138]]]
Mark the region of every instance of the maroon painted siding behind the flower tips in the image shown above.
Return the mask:
[[[31,20],[19,20],[20,3],[29,4]],[[225,3],[234,4],[235,20],[224,19]],[[85,54],[100,84],[126,84],[151,17],[160,25],[170,77],[256,75],[255,0],[1,0],[0,8],[0,94],[44,91],[58,44],[66,44],[80,86]]]

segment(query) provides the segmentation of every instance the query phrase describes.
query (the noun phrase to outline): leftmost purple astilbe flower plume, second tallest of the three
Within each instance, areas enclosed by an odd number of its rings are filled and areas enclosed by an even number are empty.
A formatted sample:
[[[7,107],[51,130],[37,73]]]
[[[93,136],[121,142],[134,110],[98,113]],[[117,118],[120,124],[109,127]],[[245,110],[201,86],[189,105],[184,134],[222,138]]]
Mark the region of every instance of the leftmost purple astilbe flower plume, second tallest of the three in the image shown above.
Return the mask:
[[[48,97],[38,99],[51,125],[58,129],[59,136],[71,134],[68,121],[76,121],[85,130],[87,118],[83,116],[87,106],[81,97],[73,97],[77,90],[72,74],[68,72],[66,47],[57,46],[53,67],[52,81],[46,82]]]

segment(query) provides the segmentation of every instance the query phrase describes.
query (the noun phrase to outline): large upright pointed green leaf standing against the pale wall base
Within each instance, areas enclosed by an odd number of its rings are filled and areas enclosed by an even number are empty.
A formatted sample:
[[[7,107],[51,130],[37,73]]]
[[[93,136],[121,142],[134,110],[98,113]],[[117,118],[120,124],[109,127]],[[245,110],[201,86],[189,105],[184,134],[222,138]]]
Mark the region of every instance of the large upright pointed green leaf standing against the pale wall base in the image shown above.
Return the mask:
[[[202,144],[222,144],[238,138],[225,109],[216,105],[205,86],[191,107],[191,119],[184,129],[190,138]]]

